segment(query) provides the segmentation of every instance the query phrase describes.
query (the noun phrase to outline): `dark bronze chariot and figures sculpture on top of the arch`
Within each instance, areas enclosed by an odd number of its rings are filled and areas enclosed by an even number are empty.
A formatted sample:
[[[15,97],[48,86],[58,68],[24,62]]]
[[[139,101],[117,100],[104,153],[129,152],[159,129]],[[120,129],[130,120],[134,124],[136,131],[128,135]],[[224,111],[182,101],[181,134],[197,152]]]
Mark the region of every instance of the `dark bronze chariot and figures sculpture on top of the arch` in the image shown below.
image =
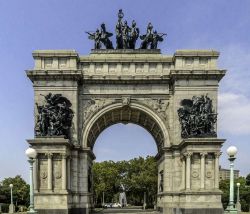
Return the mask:
[[[157,33],[153,31],[153,25],[151,23],[147,26],[147,32],[145,35],[140,36],[139,28],[136,26],[135,20],[132,21],[131,27],[129,27],[127,21],[123,21],[124,14],[120,9],[118,12],[118,22],[115,27],[116,33],[116,49],[135,49],[136,41],[138,38],[142,40],[140,49],[157,49],[158,42],[163,41],[164,33]],[[94,49],[101,49],[102,45],[106,49],[114,49],[112,41],[109,39],[113,34],[106,31],[105,24],[101,24],[101,28],[96,32],[86,32],[89,35],[89,39],[95,41]]]

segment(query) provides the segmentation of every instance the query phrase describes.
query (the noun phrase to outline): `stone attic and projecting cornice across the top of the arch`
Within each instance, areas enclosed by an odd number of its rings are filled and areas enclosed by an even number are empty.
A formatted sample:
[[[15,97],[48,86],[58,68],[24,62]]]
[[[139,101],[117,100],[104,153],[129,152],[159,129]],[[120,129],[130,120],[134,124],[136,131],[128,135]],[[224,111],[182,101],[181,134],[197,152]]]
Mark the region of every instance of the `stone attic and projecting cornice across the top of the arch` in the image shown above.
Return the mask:
[[[79,56],[74,50],[33,52],[34,79],[71,79],[87,82],[158,81],[179,79],[216,79],[225,75],[217,68],[219,52],[214,50],[177,50],[173,56],[160,50],[92,50]]]

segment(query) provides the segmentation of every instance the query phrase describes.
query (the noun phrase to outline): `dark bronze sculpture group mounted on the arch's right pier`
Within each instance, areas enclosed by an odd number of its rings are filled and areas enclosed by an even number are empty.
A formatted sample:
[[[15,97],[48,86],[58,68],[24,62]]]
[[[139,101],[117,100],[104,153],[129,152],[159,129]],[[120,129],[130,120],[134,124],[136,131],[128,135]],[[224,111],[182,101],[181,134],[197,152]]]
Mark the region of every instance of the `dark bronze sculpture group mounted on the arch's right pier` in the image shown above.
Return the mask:
[[[212,110],[212,100],[207,95],[193,96],[192,100],[181,101],[178,109],[181,123],[181,136],[188,137],[215,137],[214,125],[217,114]]]

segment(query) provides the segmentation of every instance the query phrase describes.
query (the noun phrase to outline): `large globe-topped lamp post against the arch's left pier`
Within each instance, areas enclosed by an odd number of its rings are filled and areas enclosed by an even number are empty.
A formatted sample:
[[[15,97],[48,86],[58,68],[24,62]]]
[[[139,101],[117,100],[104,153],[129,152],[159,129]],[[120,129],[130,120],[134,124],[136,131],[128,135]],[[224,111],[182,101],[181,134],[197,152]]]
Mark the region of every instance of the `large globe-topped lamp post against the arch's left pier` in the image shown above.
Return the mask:
[[[37,213],[34,210],[34,186],[33,186],[33,163],[35,162],[35,158],[37,156],[37,152],[33,148],[28,148],[25,152],[27,155],[28,162],[30,163],[30,210],[27,213]]]

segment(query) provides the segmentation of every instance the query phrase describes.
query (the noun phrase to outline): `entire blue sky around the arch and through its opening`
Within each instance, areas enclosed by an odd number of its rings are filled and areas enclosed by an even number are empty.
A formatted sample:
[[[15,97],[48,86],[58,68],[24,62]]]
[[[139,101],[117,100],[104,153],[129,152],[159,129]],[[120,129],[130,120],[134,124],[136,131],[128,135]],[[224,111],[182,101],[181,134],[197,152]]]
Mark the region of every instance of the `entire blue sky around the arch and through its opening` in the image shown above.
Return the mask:
[[[25,139],[33,138],[33,89],[24,70],[33,67],[32,51],[93,47],[85,31],[102,22],[114,32],[117,11],[137,21],[141,33],[151,21],[168,34],[163,54],[177,49],[215,49],[219,67],[228,70],[220,83],[219,137],[225,149],[239,149],[236,168],[250,173],[250,1],[249,0],[8,0],[0,1],[0,179],[21,174],[28,180]],[[116,125],[98,138],[97,161],[155,154],[152,137],[135,125]],[[120,155],[117,155],[120,154]]]

